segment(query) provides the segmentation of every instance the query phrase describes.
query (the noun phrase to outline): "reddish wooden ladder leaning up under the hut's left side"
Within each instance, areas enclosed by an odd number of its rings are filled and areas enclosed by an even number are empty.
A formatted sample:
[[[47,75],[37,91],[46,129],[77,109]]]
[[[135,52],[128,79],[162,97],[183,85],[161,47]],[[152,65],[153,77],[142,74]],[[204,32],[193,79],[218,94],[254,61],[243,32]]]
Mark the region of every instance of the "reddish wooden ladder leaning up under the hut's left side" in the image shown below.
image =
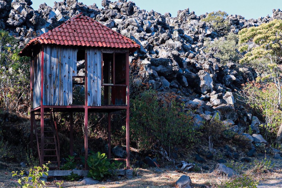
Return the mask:
[[[36,119],[39,116],[39,119]],[[39,156],[40,165],[51,162],[48,165],[49,169],[59,169],[60,170],[60,142],[58,137],[57,123],[55,119],[55,114],[50,109],[49,112],[44,113],[44,140],[43,140],[43,161],[41,161],[41,126],[40,118],[41,114],[33,113],[34,129],[37,141],[37,150]]]

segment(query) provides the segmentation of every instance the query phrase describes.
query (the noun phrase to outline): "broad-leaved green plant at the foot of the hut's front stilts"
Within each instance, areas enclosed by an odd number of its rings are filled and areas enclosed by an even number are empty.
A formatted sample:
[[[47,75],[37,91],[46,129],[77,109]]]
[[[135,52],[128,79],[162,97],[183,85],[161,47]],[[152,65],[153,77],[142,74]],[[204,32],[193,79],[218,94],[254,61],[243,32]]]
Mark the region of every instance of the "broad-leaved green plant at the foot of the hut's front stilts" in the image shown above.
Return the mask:
[[[107,156],[105,153],[93,153],[88,156],[87,164],[89,167],[89,173],[88,177],[92,177],[96,180],[101,180],[106,175],[111,174],[109,170],[114,170],[120,167],[122,163],[120,162],[110,162],[110,159],[107,159]]]

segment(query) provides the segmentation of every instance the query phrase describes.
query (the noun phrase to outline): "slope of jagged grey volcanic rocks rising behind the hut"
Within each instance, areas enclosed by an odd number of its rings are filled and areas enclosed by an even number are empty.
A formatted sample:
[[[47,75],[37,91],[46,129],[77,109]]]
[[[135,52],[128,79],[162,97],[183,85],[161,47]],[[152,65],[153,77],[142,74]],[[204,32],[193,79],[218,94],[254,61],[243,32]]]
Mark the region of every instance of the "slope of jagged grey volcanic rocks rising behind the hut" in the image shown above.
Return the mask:
[[[214,30],[212,23],[204,21],[208,14],[197,16],[187,8],[179,10],[177,17],[171,17],[169,13],[142,10],[127,0],[103,0],[103,8],[96,4],[86,6],[78,0],[55,2],[53,7],[43,3],[38,10],[31,5],[31,0],[0,0],[0,29],[15,36],[20,41],[19,47],[82,12],[141,45],[129,58],[131,62],[136,60],[140,68],[140,77],[133,84],[147,81],[155,90],[181,96],[186,110],[195,110],[197,125],[218,114],[222,121],[232,125],[230,130],[234,132],[246,131],[251,125],[259,133],[261,122],[252,111],[237,104],[234,93],[241,84],[254,80],[257,73],[236,62],[222,63],[213,51],[204,51],[204,41],[216,41],[226,35],[226,28]],[[247,20],[240,15],[228,15],[224,19],[227,30],[238,34],[242,28],[282,19],[282,12],[274,9],[271,17],[258,19]],[[250,135],[245,136],[254,141]],[[258,142],[265,142],[258,138]],[[249,156],[254,151],[252,146]]]

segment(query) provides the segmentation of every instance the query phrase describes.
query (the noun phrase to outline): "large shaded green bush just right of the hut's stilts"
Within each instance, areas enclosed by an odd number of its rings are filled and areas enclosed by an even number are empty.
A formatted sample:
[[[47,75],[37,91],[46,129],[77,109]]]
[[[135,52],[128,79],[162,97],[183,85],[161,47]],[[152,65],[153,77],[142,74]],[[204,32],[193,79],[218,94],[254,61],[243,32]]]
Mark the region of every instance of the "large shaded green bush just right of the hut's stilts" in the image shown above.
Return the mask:
[[[158,96],[156,91],[146,90],[130,104],[131,140],[138,149],[149,149],[155,143],[186,147],[198,141],[200,133],[193,127],[191,115],[174,95]]]

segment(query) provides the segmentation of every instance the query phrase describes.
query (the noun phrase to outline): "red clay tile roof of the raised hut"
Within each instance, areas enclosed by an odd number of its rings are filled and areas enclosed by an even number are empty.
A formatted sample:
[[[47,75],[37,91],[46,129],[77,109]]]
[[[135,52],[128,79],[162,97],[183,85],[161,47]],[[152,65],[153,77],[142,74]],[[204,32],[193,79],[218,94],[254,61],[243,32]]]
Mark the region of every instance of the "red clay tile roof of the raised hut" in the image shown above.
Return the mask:
[[[26,54],[32,44],[57,44],[87,47],[129,48],[131,52],[140,48],[135,41],[111,30],[82,13],[70,18],[60,26],[28,42],[19,55]]]

